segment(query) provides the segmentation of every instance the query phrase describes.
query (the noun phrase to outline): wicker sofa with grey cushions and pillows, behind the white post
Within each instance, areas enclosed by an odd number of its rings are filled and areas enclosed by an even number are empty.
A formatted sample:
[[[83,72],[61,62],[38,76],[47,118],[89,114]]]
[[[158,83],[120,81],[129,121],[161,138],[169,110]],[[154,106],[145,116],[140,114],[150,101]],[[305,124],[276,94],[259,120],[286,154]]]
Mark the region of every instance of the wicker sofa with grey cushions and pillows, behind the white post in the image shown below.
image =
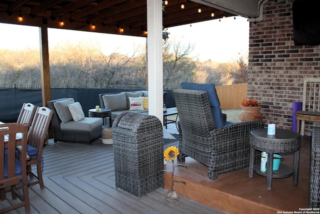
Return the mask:
[[[163,92],[163,103],[165,103],[167,92]],[[130,110],[130,100],[129,97],[138,98],[144,97],[148,98],[148,91],[125,91],[120,93],[104,93],[99,94],[99,101],[101,108],[108,108],[112,110],[111,119],[112,121],[123,112],[133,112],[138,114],[148,114],[148,100],[143,99],[142,108],[135,108]]]

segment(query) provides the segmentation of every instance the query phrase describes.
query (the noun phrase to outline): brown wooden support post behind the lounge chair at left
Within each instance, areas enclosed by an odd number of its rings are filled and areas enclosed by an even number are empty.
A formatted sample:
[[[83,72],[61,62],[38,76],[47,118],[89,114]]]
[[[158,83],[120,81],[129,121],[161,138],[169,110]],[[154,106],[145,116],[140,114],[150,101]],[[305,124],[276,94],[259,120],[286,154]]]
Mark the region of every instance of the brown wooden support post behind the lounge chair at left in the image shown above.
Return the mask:
[[[49,68],[48,31],[46,26],[39,27],[39,39],[42,106],[47,107],[47,101],[51,100],[51,85]]]

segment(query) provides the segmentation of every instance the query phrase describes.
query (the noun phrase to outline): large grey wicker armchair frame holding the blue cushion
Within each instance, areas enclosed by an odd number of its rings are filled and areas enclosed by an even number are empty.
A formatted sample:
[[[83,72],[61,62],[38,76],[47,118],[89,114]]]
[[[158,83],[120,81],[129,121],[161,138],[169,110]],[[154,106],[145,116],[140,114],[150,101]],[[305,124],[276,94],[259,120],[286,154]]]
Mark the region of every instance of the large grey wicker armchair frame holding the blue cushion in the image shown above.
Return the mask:
[[[205,91],[176,89],[173,91],[179,115],[179,156],[208,166],[208,177],[249,166],[250,130],[263,128],[263,121],[250,121],[215,128]],[[257,158],[255,161],[257,161]]]

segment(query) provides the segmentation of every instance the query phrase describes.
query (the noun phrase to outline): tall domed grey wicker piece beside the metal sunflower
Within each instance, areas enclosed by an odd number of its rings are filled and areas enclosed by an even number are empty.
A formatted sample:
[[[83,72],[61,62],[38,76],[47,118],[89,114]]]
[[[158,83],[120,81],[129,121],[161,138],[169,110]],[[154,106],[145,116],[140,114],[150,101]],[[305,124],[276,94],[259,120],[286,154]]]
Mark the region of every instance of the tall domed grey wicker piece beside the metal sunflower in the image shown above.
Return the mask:
[[[140,197],[163,187],[163,129],[151,115],[124,112],[112,125],[115,186]]]

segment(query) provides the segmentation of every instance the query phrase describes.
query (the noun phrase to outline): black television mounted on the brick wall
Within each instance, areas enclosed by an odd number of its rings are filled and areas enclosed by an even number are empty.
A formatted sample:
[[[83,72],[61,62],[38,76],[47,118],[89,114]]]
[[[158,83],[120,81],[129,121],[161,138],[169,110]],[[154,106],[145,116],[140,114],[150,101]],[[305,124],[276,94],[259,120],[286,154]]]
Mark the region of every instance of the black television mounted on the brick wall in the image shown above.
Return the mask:
[[[320,0],[292,3],[294,45],[320,45]]]

